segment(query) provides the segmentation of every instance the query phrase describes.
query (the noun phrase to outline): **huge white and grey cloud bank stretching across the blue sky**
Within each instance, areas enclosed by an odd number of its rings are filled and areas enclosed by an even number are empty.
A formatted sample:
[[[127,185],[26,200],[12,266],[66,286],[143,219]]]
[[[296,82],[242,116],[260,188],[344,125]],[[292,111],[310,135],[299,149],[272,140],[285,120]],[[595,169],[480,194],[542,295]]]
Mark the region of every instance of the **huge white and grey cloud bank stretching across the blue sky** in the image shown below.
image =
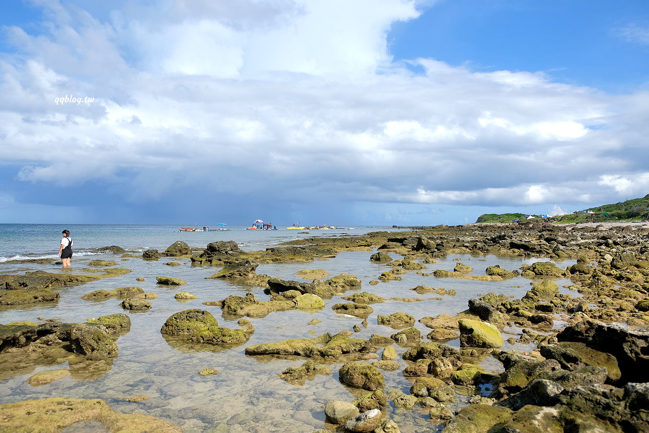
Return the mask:
[[[646,94],[434,59],[413,75],[386,39],[413,1],[151,2],[108,21],[79,4],[52,3],[38,36],[10,29],[0,147],[21,181],[458,205],[649,186]],[[55,105],[66,94],[95,101]]]

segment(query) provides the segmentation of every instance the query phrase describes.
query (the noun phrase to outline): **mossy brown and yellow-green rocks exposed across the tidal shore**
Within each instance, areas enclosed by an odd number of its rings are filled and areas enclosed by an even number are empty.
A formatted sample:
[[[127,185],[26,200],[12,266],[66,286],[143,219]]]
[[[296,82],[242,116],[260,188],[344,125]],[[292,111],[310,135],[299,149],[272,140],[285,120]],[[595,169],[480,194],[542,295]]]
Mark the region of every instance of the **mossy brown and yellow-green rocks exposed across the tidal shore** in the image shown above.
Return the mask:
[[[262,264],[310,263],[333,259],[342,252],[367,252],[367,261],[377,263],[384,272],[367,287],[361,276],[330,276],[323,269],[302,272],[315,278],[311,282],[257,274]],[[453,270],[435,269],[435,263],[456,255],[474,260],[471,265],[458,261]],[[487,255],[537,260],[518,269],[481,268],[480,257]],[[177,309],[160,328],[169,345],[241,347],[247,356],[263,361],[295,360],[293,367],[277,372],[289,386],[309,386],[317,376],[337,375],[350,398],[323,404],[326,422],[319,433],[419,431],[395,413],[426,413],[432,430],[443,428],[451,433],[649,431],[649,228],[641,224],[553,226],[528,220],[437,226],[401,233],[306,237],[256,252],[243,251],[233,241],[204,248],[178,241],[164,252],[147,250],[141,255],[145,261],[162,258],[181,259],[193,267],[215,267],[208,282],[223,280],[247,290],[243,296],[201,300],[206,308],[220,309],[224,319],[236,319],[239,328],[219,326],[206,309]],[[84,275],[42,270],[2,274],[0,304],[12,308],[56,302],[65,296],[61,291],[65,287],[129,272],[112,268],[117,264],[114,261],[101,262],[88,263],[93,268],[84,269]],[[502,282],[502,289],[469,299],[466,309],[454,315],[415,317],[407,308],[409,303],[432,305],[456,292],[421,284],[411,288],[419,297],[372,293],[374,285],[395,284],[406,274],[428,278],[425,284],[447,279]],[[513,278],[530,283],[520,298],[508,293]],[[559,287],[559,280],[570,284]],[[157,278],[157,285],[167,291],[184,284],[180,278]],[[191,291],[175,291],[178,302],[196,298]],[[156,297],[140,287],[119,287],[90,291],[82,300],[118,298],[120,309],[133,313],[155,309]],[[374,326],[368,322],[373,306],[387,300],[404,308],[372,320],[383,330],[392,329],[387,333],[391,335],[354,337]],[[329,311],[358,320],[352,329],[341,332],[321,330],[309,338],[249,342],[263,318],[293,310]],[[255,319],[260,322],[253,324]],[[415,324],[428,328],[428,335]],[[69,364],[69,372],[53,370],[51,376],[30,380],[47,384],[67,374],[101,377],[118,356],[118,337],[130,328],[129,317],[117,312],[86,323],[0,325],[4,366],[0,379],[25,374],[34,365],[62,362]],[[502,350],[506,342],[532,347]],[[10,361],[18,358],[20,363]],[[485,369],[482,365],[491,365],[490,360],[502,369]],[[219,373],[206,370],[210,372],[202,376]],[[224,374],[221,371],[219,376]],[[406,378],[410,389],[387,387],[390,376]],[[64,416],[63,410],[74,415]],[[31,417],[36,421],[30,421],[36,423],[36,430],[27,430],[29,413],[39,414]],[[125,423],[131,422],[124,418],[127,415],[113,412],[102,400],[73,399],[2,404],[0,431],[61,431],[83,417],[102,423],[111,432],[130,431],[124,430]],[[132,422],[143,423],[137,431],[180,431],[160,419]]]

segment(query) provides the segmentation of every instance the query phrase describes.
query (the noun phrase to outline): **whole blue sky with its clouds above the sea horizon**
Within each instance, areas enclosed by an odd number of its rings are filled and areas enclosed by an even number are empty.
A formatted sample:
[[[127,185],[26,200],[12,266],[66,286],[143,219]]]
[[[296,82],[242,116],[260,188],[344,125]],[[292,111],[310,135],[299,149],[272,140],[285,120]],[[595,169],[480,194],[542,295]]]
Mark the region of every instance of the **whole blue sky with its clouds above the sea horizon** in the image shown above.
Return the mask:
[[[0,223],[570,213],[648,119],[646,0],[0,1]]]

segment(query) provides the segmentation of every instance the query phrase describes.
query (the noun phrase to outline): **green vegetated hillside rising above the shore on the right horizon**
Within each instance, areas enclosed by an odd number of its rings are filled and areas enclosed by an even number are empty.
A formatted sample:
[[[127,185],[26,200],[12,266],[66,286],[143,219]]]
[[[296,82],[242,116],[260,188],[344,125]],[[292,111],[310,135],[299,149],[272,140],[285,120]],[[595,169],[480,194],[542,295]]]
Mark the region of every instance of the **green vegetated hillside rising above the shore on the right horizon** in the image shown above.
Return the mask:
[[[611,203],[607,205],[600,205],[595,207],[588,207],[582,211],[575,211],[569,215],[557,215],[556,217],[545,218],[550,222],[556,224],[570,224],[577,222],[607,222],[607,221],[639,221],[649,219],[649,194],[642,198],[632,198],[625,202]],[[589,213],[593,212],[593,213]],[[539,215],[532,215],[533,217],[540,218]],[[476,223],[488,222],[511,222],[519,218],[522,220],[526,218],[526,214],[522,213],[487,213],[480,215]]]

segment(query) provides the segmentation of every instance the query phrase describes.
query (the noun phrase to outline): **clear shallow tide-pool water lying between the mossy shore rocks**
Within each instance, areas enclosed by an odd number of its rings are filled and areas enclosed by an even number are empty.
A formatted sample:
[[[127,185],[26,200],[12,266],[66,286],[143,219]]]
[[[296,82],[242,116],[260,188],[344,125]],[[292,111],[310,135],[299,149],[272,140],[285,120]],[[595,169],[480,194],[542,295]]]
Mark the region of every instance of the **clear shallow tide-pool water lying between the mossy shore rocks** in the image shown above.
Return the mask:
[[[196,234],[196,233],[190,233]],[[200,233],[203,234],[203,233]],[[207,233],[205,233],[207,234]],[[212,233],[210,233],[212,234]],[[221,233],[219,233],[221,234]],[[356,234],[356,233],[354,233]],[[210,238],[213,241],[214,238]],[[173,241],[172,241],[173,242]],[[119,241],[113,242],[120,244]],[[104,243],[106,244],[106,243]],[[123,244],[123,243],[122,243]],[[170,243],[167,243],[170,244]],[[204,246],[191,242],[192,246]],[[101,246],[101,245],[99,245]],[[158,248],[161,248],[158,246]],[[419,295],[410,289],[417,285],[455,289],[456,296],[443,296],[443,300],[425,300],[424,302],[404,303],[387,300],[383,304],[372,304],[374,312],[369,316],[369,325],[354,337],[368,338],[371,334],[389,336],[396,330],[376,324],[376,316],[387,315],[395,311],[410,313],[419,320],[424,316],[435,316],[441,313],[456,314],[467,308],[469,298],[489,292],[504,293],[520,298],[530,288],[531,280],[518,277],[505,282],[478,282],[456,280],[452,278],[437,279],[434,276],[424,277],[415,271],[402,275],[400,282],[379,283],[371,286],[369,281],[377,279],[381,272],[388,270],[386,265],[369,261],[373,252],[343,252],[334,259],[317,260],[313,263],[291,263],[281,265],[260,265],[258,274],[278,276],[288,280],[301,280],[295,272],[302,269],[324,269],[332,276],[347,272],[356,275],[363,282],[361,291],[376,293],[384,298],[430,298],[435,294]],[[400,258],[391,254],[395,259]],[[452,270],[456,261],[461,261],[474,268],[474,274],[484,274],[487,266],[499,264],[509,270],[519,268],[523,263],[532,263],[538,259],[521,259],[520,257],[471,257],[448,256],[441,263],[428,265],[430,272],[434,269]],[[331,306],[337,302],[347,302],[339,297],[325,300],[326,307],[315,313],[304,311],[282,311],[271,313],[262,319],[250,319],[256,328],[251,339],[235,348],[223,350],[218,347],[192,347],[178,345],[167,341],[160,334],[160,328],[165,320],[178,311],[190,308],[201,308],[210,311],[218,320],[220,326],[238,328],[236,320],[225,320],[221,317],[218,307],[203,306],[201,302],[221,300],[228,295],[243,295],[252,291],[260,300],[267,300],[263,289],[236,285],[223,280],[205,280],[217,272],[215,267],[193,267],[187,259],[160,259],[160,261],[143,261],[138,258],[121,261],[119,256],[106,254],[101,258],[117,261],[117,267],[132,269],[133,272],[115,278],[106,278],[98,282],[87,283],[62,289],[61,299],[56,304],[41,304],[21,308],[0,308],[0,322],[8,323],[16,320],[38,322],[38,317],[60,319],[62,322],[84,322],[88,317],[121,313],[120,300],[114,298],[101,302],[81,300],[80,296],[97,289],[115,289],[117,287],[137,285],[145,292],[157,293],[160,297],[151,300],[153,308],[150,311],[130,313],[132,321],[128,334],[119,337],[117,345],[119,356],[112,363],[110,370],[98,378],[87,378],[89,374],[73,374],[56,380],[51,384],[32,387],[27,379],[38,371],[47,369],[66,368],[67,363],[41,366],[29,372],[21,372],[18,376],[3,380],[0,389],[0,403],[15,402],[25,399],[40,399],[44,397],[74,397],[82,399],[100,398],[117,412],[145,413],[167,419],[185,432],[309,432],[324,428],[323,405],[328,400],[354,399],[350,391],[343,386],[337,377],[340,363],[328,365],[334,372],[332,376],[316,376],[315,380],[307,381],[304,386],[293,386],[278,378],[284,369],[290,366],[302,365],[303,359],[293,360],[258,360],[244,354],[244,348],[258,343],[280,341],[288,338],[315,337],[324,332],[336,333],[351,330],[361,319],[337,315]],[[543,259],[545,261],[546,259]],[[166,261],[179,261],[178,267],[164,265]],[[73,259],[74,272],[83,273],[83,260]],[[87,263],[87,262],[86,262]],[[559,263],[560,267],[572,265],[571,261]],[[10,270],[29,267],[49,272],[59,271],[55,265],[2,265],[0,270]],[[136,277],[144,277],[145,282],[136,282]],[[174,276],[187,282],[181,287],[156,285],[156,276]],[[556,281],[559,287],[569,284],[568,280]],[[565,289],[561,289],[565,291]],[[195,300],[178,302],[173,297],[179,291],[189,291],[197,296]],[[345,295],[352,293],[348,291]],[[322,322],[308,325],[312,319]],[[430,330],[417,322],[415,326],[423,335]],[[310,334],[310,331],[315,334]],[[519,332],[517,328],[511,329]],[[505,335],[505,338],[510,335]],[[395,343],[396,344],[396,343]],[[448,343],[459,346],[459,340]],[[504,349],[513,346],[505,343]],[[533,346],[515,345],[515,348],[529,349]],[[406,348],[397,346],[401,354]],[[378,351],[378,355],[382,349]],[[406,363],[397,360],[402,367]],[[481,361],[488,371],[502,369],[500,363],[486,357]],[[198,375],[201,369],[212,367],[220,374],[202,377]],[[401,369],[402,370],[402,369]],[[386,389],[393,387],[408,393],[411,382],[404,378],[400,371],[384,372]],[[97,376],[99,373],[95,373]],[[147,395],[149,400],[142,402],[127,402],[121,400],[134,395]],[[458,396],[460,407],[468,397]],[[450,406],[454,408],[453,405]],[[428,421],[425,410],[415,408],[403,411],[389,408],[388,416],[394,419],[404,433],[430,432],[436,426]],[[82,428],[82,426],[80,426]],[[69,430],[75,431],[75,430]],[[82,431],[82,430],[79,430]]]

